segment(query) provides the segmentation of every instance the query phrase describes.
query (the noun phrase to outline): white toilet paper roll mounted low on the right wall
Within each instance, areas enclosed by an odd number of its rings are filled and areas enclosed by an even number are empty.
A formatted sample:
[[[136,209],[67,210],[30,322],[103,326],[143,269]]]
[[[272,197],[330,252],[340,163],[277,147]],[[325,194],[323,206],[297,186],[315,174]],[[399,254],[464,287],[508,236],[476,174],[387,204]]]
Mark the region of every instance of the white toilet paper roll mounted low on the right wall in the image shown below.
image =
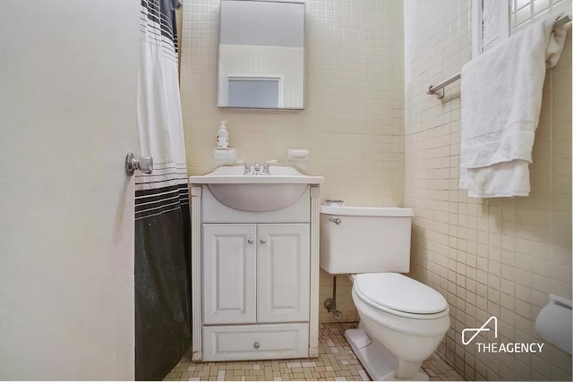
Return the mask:
[[[537,315],[535,331],[547,342],[559,346],[565,352],[571,353],[571,310],[550,303]]]

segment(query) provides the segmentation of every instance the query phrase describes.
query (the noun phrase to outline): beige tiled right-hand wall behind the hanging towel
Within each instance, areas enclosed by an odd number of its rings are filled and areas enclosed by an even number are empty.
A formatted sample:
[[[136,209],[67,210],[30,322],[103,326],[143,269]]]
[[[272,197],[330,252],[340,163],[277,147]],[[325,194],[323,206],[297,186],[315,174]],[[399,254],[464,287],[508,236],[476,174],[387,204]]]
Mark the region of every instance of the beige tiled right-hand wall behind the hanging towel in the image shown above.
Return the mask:
[[[432,12],[432,16],[427,15]],[[424,93],[471,59],[471,1],[406,0],[406,199],[415,209],[412,275],[443,293],[452,325],[440,352],[468,380],[570,380],[571,357],[487,354],[461,331],[500,319],[500,341],[539,341],[548,293],[571,298],[571,40],[547,72],[528,198],[458,190],[459,82]]]

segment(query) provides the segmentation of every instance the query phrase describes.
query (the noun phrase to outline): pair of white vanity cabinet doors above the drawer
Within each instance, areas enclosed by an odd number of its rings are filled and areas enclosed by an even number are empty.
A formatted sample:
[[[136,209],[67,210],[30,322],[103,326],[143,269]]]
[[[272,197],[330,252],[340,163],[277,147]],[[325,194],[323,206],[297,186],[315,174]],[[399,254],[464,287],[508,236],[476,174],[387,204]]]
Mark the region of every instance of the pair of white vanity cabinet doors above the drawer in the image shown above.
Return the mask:
[[[308,321],[310,225],[203,224],[203,324]]]

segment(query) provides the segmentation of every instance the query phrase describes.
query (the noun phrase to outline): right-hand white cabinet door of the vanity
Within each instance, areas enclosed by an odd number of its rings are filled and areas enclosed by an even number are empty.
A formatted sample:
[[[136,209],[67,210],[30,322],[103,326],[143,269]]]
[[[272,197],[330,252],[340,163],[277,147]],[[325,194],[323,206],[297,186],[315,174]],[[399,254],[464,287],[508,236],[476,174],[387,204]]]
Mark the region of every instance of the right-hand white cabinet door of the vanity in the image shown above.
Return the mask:
[[[257,322],[308,321],[310,225],[257,225]]]

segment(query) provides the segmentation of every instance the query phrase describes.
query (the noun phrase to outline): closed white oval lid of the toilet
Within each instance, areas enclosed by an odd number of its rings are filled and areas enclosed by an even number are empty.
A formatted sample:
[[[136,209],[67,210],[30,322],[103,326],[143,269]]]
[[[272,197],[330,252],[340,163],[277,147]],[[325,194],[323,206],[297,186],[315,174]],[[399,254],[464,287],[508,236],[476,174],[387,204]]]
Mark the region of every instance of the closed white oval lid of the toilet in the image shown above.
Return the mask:
[[[363,300],[390,310],[432,314],[448,308],[448,302],[440,293],[398,273],[356,275],[355,287]]]

